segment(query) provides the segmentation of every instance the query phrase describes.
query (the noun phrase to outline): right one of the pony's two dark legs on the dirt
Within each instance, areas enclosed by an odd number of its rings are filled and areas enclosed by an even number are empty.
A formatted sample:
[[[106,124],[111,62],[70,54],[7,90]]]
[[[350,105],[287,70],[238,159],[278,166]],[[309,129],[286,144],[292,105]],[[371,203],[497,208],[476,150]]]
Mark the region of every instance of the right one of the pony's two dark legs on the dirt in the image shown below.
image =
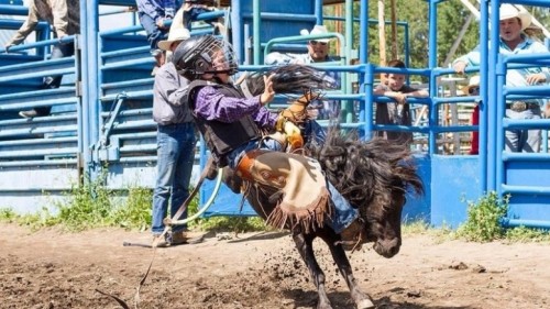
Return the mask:
[[[342,277],[345,279],[348,288],[350,289],[351,298],[358,306],[358,309],[374,308],[371,297],[359,288],[358,282],[353,276],[350,260],[345,255],[345,251],[343,250],[340,241],[340,236],[331,229],[326,229],[326,231],[328,233],[323,234],[322,240],[329,246],[332,258],[334,260],[340,274],[342,274]]]

